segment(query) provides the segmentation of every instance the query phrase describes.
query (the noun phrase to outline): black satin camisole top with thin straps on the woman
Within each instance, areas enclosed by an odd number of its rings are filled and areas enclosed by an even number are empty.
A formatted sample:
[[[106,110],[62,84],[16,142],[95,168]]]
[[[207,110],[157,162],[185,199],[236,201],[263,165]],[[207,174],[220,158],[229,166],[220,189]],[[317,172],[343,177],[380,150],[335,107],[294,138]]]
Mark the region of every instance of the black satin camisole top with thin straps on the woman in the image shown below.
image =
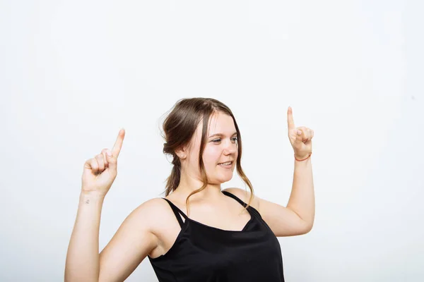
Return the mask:
[[[228,197],[247,206],[230,192]],[[166,200],[181,226],[165,255],[148,257],[160,282],[283,282],[281,248],[257,209],[242,231],[225,231],[189,219]],[[181,219],[181,214],[185,221]]]

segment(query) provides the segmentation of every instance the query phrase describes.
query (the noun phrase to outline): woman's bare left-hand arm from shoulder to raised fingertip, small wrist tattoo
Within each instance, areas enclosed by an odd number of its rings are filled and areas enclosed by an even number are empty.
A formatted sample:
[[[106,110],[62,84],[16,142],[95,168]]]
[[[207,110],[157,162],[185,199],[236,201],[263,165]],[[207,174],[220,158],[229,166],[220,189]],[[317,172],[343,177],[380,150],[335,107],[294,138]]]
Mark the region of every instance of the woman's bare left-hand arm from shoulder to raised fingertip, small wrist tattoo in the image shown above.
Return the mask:
[[[160,199],[152,199],[126,217],[99,254],[102,204],[117,177],[117,158],[124,135],[125,131],[119,130],[112,150],[103,149],[84,164],[78,212],[66,255],[66,282],[124,281],[158,245],[158,238],[153,235],[155,219],[152,215]]]

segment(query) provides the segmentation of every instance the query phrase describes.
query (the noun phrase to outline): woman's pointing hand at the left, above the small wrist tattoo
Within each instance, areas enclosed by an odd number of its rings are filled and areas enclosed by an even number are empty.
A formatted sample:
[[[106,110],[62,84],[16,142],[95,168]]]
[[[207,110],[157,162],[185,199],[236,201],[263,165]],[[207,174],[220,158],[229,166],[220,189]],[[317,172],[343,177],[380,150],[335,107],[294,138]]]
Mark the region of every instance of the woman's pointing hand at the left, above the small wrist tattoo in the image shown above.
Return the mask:
[[[105,197],[114,179],[117,177],[117,159],[124,142],[125,130],[119,130],[117,140],[112,148],[102,152],[84,164],[82,192]],[[111,155],[108,155],[109,152]]]

